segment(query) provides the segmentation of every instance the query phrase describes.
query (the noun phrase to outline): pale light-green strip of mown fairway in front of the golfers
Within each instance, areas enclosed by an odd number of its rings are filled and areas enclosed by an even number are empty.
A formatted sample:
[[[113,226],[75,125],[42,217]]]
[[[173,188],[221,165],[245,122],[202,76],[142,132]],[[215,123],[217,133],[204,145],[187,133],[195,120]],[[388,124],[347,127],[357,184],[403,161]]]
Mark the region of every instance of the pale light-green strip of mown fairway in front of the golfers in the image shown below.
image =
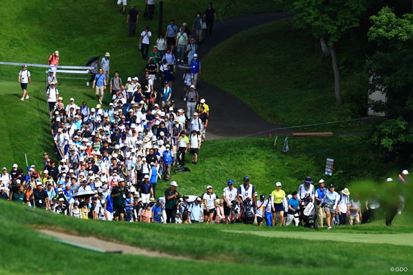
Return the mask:
[[[326,228],[324,228],[326,229]],[[264,232],[264,231],[240,231],[226,230],[228,233],[253,234],[256,236],[265,236],[269,238],[290,238],[326,241],[342,241],[348,243],[381,243],[389,245],[407,245],[413,246],[413,234],[352,234],[352,233],[334,233],[332,232]]]

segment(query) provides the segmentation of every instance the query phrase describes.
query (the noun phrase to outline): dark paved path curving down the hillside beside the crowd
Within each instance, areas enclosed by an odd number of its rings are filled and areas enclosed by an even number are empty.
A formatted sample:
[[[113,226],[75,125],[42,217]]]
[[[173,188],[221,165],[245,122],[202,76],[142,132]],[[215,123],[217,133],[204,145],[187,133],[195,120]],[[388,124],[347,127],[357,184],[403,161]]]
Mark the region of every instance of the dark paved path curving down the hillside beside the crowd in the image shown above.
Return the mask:
[[[229,39],[237,32],[248,30],[249,28],[262,25],[264,23],[286,19],[290,17],[288,12],[271,12],[266,14],[248,14],[242,17],[235,17],[225,21],[214,23],[213,34],[207,36],[202,45],[198,46],[198,55],[202,63],[202,58],[207,55],[216,45]],[[216,67],[202,67],[206,72],[211,69],[224,69],[219,64]],[[173,83],[173,99],[176,106],[187,109],[184,102],[182,74],[184,69],[177,69],[176,81]],[[211,108],[209,116],[209,127],[207,139],[215,140],[220,138],[246,137],[246,136],[268,136],[270,129],[277,128],[274,124],[266,122],[260,115],[257,115],[247,104],[235,98],[226,91],[202,81],[202,75],[197,85],[198,92],[202,98],[207,100]],[[160,83],[156,81],[156,89],[160,90]],[[268,131],[270,130],[270,131]]]

